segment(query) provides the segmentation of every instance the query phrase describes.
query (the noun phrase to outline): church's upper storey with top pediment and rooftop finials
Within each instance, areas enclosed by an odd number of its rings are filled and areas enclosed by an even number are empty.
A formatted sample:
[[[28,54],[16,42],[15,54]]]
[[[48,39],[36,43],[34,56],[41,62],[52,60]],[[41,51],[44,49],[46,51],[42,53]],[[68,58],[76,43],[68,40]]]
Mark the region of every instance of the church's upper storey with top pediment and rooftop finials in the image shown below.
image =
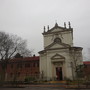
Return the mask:
[[[44,48],[53,43],[55,40],[60,40],[61,43],[73,46],[73,28],[71,28],[70,22],[69,28],[66,28],[66,23],[64,23],[64,27],[60,27],[57,23],[55,23],[53,28],[49,29],[48,26],[48,30],[45,31],[44,26],[44,32],[42,34],[44,38]]]

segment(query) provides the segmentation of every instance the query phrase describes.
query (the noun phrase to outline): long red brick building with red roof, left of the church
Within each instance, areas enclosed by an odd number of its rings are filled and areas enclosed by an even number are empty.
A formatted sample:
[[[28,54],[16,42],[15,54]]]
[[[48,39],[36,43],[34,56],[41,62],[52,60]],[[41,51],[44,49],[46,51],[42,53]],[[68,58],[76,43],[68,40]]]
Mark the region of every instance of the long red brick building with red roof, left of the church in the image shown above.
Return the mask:
[[[39,77],[39,56],[9,60],[5,80],[13,81],[15,79],[17,81],[24,81],[26,77]]]

